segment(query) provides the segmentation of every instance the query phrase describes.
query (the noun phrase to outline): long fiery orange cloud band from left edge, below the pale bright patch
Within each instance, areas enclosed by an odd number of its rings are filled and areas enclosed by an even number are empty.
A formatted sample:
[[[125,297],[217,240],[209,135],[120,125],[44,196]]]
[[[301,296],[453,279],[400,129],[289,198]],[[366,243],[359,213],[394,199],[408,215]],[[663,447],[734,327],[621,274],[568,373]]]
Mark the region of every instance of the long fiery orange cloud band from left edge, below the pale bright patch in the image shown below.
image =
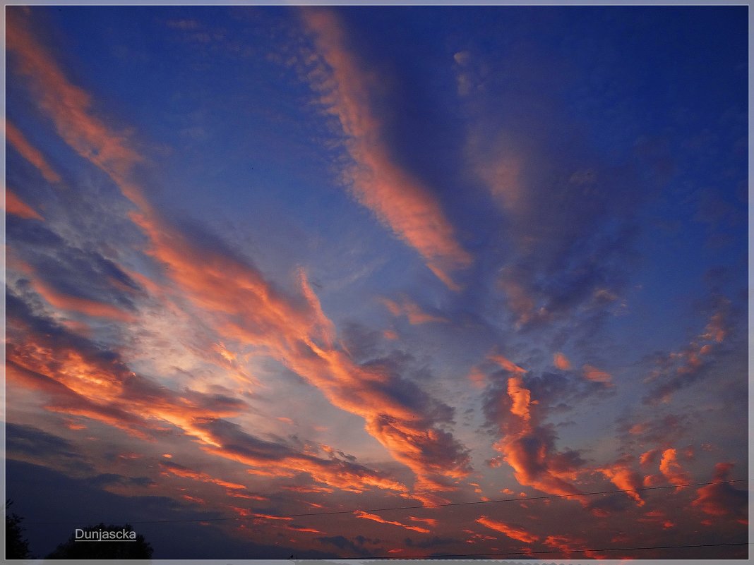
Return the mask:
[[[129,371],[114,353],[33,316],[12,295],[8,297],[8,337],[9,384],[48,395],[52,411],[99,420],[139,438],[158,437],[164,429],[162,423],[167,422],[198,438],[205,451],[260,466],[271,475],[305,472],[315,481],[354,492],[370,487],[407,491],[387,475],[356,463],[320,459],[285,444],[255,438],[222,420],[238,415],[246,407],[243,401],[157,386]],[[228,489],[244,488],[176,463],[162,462],[161,469]]]

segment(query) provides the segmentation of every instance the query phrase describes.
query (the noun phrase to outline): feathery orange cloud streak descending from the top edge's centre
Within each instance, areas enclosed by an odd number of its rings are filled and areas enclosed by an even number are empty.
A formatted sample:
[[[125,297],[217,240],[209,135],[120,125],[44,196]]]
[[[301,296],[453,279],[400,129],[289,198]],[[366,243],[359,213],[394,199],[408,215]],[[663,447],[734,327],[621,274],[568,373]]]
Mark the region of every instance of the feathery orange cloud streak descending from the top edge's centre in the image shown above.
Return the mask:
[[[348,171],[351,191],[398,237],[425,258],[427,266],[451,289],[458,286],[449,270],[472,259],[455,240],[454,230],[428,189],[391,157],[382,139],[379,117],[369,100],[379,88],[372,75],[346,50],[345,31],[331,11],[305,9],[302,18],[314,34],[317,50],[329,67],[330,80],[314,85],[348,136],[355,165]]]

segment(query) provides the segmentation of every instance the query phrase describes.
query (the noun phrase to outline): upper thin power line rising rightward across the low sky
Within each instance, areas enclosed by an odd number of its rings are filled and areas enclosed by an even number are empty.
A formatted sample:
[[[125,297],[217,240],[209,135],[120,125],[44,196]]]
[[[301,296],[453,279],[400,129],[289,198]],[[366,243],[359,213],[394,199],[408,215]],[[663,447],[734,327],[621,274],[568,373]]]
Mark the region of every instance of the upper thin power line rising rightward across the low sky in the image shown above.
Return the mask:
[[[428,504],[428,505],[414,505],[414,506],[394,506],[391,508],[382,509],[353,509],[353,510],[331,510],[326,512],[303,512],[300,514],[277,514],[270,515],[272,518],[302,518],[305,516],[329,516],[338,514],[353,514],[354,512],[392,512],[394,510],[421,510],[428,508],[442,508],[446,506],[467,506],[475,504],[495,504],[497,502],[516,502],[521,500],[541,500],[541,499],[554,499],[554,498],[571,498],[575,496],[591,496],[594,494],[615,494],[615,493],[634,493],[643,490],[661,490],[669,488],[680,487],[701,487],[708,484],[729,484],[729,483],[741,483],[749,481],[748,478],[732,479],[731,481],[710,481],[706,483],[686,483],[686,484],[669,484],[661,487],[639,487],[630,489],[617,489],[617,490],[596,490],[590,493],[577,493],[577,494],[547,494],[543,496],[520,496],[517,498],[506,498],[497,500],[474,500],[470,502],[445,502],[443,504]],[[184,518],[179,520],[124,520],[118,522],[118,524],[172,524],[181,522],[222,522],[222,521],[238,521],[238,520],[255,520],[262,518],[260,516],[234,516],[232,518]],[[83,521],[60,521],[60,522],[26,522],[26,524],[34,525],[51,525],[51,524],[81,524]],[[586,550],[597,551],[597,550]]]

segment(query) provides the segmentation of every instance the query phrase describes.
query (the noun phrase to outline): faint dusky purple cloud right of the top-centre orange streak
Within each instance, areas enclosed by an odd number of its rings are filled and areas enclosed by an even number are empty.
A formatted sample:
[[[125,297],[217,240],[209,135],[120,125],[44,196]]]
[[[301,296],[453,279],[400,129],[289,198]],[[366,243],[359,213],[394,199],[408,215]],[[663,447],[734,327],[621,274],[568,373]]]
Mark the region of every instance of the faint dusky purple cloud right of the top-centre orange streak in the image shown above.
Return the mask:
[[[584,142],[556,94],[558,78],[568,80],[565,61],[534,62],[533,53],[491,59],[485,51],[469,45],[454,66],[467,177],[486,188],[498,216],[498,245],[478,262],[495,265],[517,330],[568,321],[579,333],[595,332],[621,309],[637,258],[636,211],[653,183],[639,182],[637,157],[616,161]],[[516,80],[501,80],[510,76]],[[500,100],[516,111],[500,111]]]

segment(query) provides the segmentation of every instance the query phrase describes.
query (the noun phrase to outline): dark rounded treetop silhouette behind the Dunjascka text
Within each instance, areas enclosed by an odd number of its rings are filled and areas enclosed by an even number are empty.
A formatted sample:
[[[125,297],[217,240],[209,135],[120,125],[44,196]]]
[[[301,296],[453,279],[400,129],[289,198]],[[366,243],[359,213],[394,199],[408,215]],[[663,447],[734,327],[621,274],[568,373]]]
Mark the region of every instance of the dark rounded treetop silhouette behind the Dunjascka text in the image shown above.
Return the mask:
[[[97,524],[82,528],[84,532],[133,532],[129,524],[125,526],[114,526],[109,524]],[[86,536],[85,539],[93,539]],[[152,545],[144,541],[144,536],[136,535],[134,541],[78,541],[75,533],[69,537],[68,541],[57,546],[55,551],[47,556],[47,559],[149,559],[152,557]]]

